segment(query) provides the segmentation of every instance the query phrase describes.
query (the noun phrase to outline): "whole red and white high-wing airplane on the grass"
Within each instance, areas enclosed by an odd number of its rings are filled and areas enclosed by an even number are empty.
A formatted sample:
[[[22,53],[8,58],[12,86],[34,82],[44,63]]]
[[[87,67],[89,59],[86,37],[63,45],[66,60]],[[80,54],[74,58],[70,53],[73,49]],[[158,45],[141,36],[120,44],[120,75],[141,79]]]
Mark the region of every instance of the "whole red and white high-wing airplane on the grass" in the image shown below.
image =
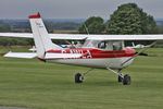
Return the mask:
[[[33,34],[29,33],[0,33],[0,36],[34,38],[37,52],[8,52],[3,57],[35,58],[40,61],[64,63],[90,68],[84,73],[75,75],[75,83],[83,83],[84,76],[93,68],[106,69],[118,76],[118,82],[130,84],[130,76],[123,74],[134,59],[141,53],[136,53],[124,45],[125,40],[163,40],[163,35],[73,35],[48,34],[40,14],[29,15]],[[77,39],[85,40],[80,48],[64,49],[51,41],[51,39]],[[149,47],[151,47],[151,44]],[[117,70],[117,72],[115,71]]]

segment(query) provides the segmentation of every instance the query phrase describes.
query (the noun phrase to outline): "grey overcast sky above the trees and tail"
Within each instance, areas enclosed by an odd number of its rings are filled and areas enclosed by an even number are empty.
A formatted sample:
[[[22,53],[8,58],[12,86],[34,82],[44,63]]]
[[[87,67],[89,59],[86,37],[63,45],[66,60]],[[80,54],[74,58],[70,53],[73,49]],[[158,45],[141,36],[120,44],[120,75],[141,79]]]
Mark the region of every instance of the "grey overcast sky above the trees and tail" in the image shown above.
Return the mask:
[[[109,19],[118,5],[128,2],[163,19],[163,0],[0,0],[0,19],[27,19],[38,11],[43,19]]]

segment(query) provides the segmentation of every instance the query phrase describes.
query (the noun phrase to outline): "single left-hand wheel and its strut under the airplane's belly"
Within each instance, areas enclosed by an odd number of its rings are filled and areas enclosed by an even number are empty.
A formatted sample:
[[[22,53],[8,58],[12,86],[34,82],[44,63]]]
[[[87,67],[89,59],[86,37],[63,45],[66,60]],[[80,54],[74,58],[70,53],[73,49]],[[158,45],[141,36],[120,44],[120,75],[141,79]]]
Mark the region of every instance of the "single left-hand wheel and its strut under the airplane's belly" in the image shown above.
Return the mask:
[[[84,73],[76,73],[76,74],[75,74],[75,83],[83,83],[84,76],[85,76],[87,73],[89,73],[90,71],[92,71],[92,70],[93,70],[93,69],[91,68],[91,69],[87,70],[87,71],[84,72]]]

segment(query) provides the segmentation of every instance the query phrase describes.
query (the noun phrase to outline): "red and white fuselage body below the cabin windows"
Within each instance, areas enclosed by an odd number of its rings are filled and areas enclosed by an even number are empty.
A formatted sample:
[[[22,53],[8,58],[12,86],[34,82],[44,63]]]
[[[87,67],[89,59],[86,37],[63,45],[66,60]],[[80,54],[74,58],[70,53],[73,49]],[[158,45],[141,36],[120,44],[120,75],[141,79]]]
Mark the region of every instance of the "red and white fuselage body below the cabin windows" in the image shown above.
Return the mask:
[[[77,49],[61,49],[61,50],[49,50],[47,53],[80,53],[80,58],[60,58],[60,59],[48,59],[46,62],[52,63],[64,63],[73,65],[84,65],[90,68],[111,68],[111,69],[123,69],[128,66],[133,59],[122,65],[123,62],[136,55],[136,51],[131,48],[125,48],[124,50],[103,50],[97,48],[77,48]]]

